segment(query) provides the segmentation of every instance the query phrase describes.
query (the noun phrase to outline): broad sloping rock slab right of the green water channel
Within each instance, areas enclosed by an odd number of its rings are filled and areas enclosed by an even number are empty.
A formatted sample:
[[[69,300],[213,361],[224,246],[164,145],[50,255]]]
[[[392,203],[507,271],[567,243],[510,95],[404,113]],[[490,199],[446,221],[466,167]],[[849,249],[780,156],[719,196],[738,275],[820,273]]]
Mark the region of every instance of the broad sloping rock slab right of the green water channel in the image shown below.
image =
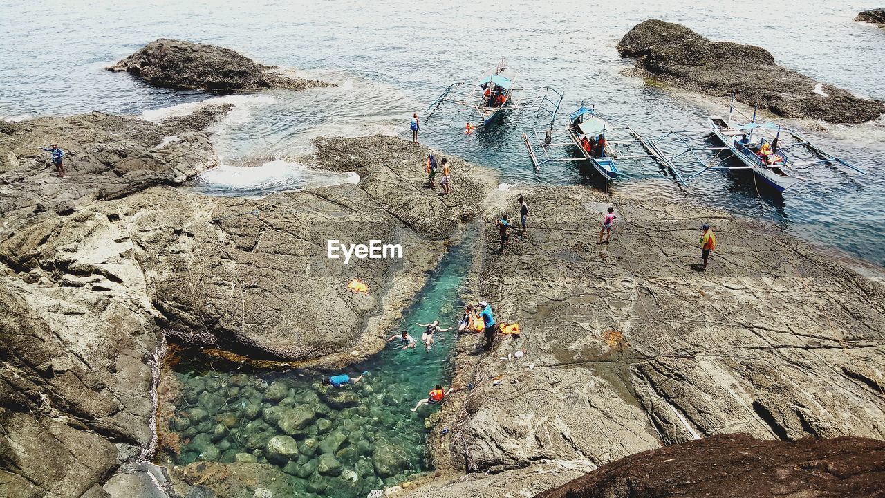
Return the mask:
[[[516,192],[495,193],[478,276],[496,318],[522,333],[490,354],[463,339],[459,381],[475,387],[447,407],[452,430],[435,446],[450,471],[410,496],[533,495],[733,432],[885,439],[881,284],[704,206],[582,187],[523,193],[530,228],[503,254],[491,223],[516,212]],[[610,205],[612,241],[597,245]],[[719,237],[706,272],[702,222]]]

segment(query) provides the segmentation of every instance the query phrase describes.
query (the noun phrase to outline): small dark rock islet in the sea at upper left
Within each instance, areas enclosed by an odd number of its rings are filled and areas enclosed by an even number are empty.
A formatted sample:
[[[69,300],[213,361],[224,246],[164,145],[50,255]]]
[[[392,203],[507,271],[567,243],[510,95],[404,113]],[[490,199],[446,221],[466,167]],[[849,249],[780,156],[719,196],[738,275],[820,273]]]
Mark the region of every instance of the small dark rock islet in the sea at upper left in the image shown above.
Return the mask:
[[[171,89],[251,91],[334,86],[283,74],[277,67],[263,66],[223,47],[165,38],[148,43],[108,69],[127,71],[151,85]]]

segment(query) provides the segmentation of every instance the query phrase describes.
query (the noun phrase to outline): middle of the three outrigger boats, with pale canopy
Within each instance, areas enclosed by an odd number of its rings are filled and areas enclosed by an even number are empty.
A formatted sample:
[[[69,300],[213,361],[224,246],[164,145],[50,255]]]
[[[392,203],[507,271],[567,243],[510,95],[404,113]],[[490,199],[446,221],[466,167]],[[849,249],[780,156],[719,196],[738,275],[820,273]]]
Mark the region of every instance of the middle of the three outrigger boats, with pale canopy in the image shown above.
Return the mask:
[[[523,133],[522,141],[526,144],[532,165],[538,171],[549,162],[585,161],[606,180],[614,180],[620,175],[619,161],[657,159],[648,152],[650,144],[633,128],[612,127],[596,112],[596,106],[587,107],[583,103],[568,115],[568,128],[535,129],[530,134]],[[646,152],[630,153],[633,145],[640,145]],[[566,155],[562,152],[569,153]]]

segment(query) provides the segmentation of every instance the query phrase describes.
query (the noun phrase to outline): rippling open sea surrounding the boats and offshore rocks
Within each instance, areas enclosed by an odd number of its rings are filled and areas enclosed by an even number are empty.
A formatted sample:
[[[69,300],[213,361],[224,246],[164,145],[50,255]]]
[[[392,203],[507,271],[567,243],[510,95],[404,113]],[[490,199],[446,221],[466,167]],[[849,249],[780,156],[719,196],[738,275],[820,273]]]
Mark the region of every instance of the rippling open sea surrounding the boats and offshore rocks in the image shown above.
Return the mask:
[[[714,39],[758,44],[781,66],[857,95],[885,98],[885,30],[852,20],[869,7],[866,0],[653,0],[642,8],[613,0],[495,5],[453,0],[4,0],[0,117],[20,120],[96,109],[159,119],[212,99],[200,92],[151,88],[128,74],[104,70],[158,37],[216,43],[339,84],[301,93],[221,97],[237,105],[215,137],[224,166],[201,178],[196,188],[260,196],[352,181],[311,172],[297,158],[311,151],[315,136],[406,136],[413,112],[423,113],[451,82],[475,80],[502,56],[519,71],[521,85],[565,92],[558,126],[585,101],[645,136],[704,128],[708,114],[727,113],[725,99],[661,89],[622,74],[632,62],[621,59],[615,45],[636,23],[652,17]],[[531,116],[509,115],[465,137],[469,119],[464,110],[444,107],[425,123],[420,140],[495,167],[502,182],[517,187],[589,183],[604,188],[592,170],[571,163],[535,173],[520,139],[522,130],[532,128]],[[842,167],[803,167],[798,174],[807,180],[778,194],[757,189],[746,172],[709,173],[681,189],[656,164],[640,162],[625,164],[625,176],[609,188],[698,198],[817,245],[885,264],[885,121],[857,126],[782,122],[807,131],[868,175]]]

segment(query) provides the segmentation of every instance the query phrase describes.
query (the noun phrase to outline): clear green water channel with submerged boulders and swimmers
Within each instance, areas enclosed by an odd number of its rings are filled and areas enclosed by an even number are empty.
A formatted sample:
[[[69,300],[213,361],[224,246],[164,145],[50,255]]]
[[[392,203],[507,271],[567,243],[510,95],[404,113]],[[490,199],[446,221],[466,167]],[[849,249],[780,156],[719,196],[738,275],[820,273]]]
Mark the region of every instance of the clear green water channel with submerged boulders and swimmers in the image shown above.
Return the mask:
[[[173,411],[171,430],[181,439],[173,462],[273,463],[298,496],[366,496],[430,470],[427,417],[438,408],[410,409],[450,376],[458,295],[470,258],[468,237],[446,254],[404,313],[397,331],[407,328],[418,343],[414,349],[401,349],[396,339],[368,361],[335,372],[244,373],[182,354],[172,367],[180,395],[173,407],[161,407]],[[437,333],[435,346],[425,351],[414,323],[436,319],[454,328]],[[357,385],[320,383],[323,376],[357,377],[364,370],[369,375]]]

